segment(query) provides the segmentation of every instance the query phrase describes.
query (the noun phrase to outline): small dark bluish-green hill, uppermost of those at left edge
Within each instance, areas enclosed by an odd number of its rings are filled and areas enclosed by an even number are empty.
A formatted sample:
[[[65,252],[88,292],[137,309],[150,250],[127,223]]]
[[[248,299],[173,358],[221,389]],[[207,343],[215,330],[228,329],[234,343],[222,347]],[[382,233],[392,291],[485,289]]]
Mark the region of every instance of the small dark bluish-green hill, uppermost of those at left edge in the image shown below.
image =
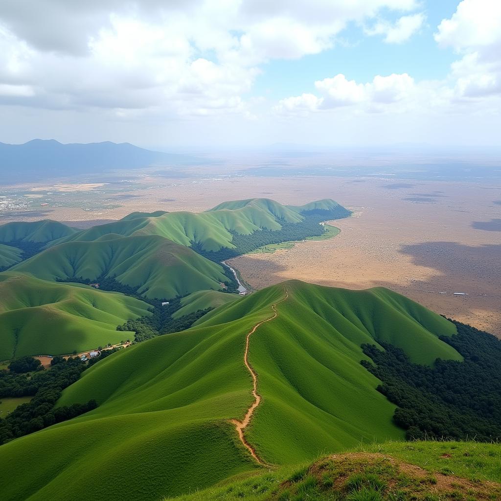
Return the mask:
[[[0,242],[36,242],[44,243],[63,238],[76,233],[71,228],[59,221],[45,219],[35,222],[8,222],[0,226]]]

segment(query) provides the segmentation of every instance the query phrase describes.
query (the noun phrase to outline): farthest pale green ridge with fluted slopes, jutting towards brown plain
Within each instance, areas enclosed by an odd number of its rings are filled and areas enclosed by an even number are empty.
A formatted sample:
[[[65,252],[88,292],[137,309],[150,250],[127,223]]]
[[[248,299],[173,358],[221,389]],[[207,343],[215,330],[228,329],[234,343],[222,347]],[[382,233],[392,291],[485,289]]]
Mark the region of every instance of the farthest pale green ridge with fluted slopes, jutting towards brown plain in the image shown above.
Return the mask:
[[[331,202],[333,206],[338,206],[336,202]],[[321,205],[327,207],[329,204],[324,200]],[[55,243],[91,241],[109,233],[122,236],[160,235],[180,245],[196,243],[203,250],[216,251],[221,247],[234,247],[231,231],[248,235],[263,228],[280,230],[281,221],[297,223],[303,218],[294,208],[266,198],[253,198],[224,202],[201,213],[135,212],[119,221],[93,226]]]

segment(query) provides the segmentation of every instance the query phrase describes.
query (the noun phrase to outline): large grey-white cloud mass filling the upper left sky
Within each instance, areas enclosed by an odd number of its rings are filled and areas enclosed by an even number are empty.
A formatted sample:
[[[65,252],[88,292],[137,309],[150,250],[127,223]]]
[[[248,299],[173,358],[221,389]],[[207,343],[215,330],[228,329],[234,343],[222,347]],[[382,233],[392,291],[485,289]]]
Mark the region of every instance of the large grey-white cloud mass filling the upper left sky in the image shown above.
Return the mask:
[[[3,0],[2,102],[121,117],[250,116],[243,96],[266,62],[317,54],[351,22],[416,7],[416,0],[37,0],[26,9]]]

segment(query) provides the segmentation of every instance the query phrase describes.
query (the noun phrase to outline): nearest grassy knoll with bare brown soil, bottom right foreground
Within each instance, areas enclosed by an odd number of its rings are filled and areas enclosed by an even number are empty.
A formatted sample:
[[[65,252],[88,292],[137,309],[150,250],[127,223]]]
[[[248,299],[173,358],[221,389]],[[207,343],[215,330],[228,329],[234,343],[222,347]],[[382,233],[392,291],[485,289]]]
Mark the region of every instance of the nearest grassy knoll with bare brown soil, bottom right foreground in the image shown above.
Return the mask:
[[[240,475],[176,501],[499,499],[501,449],[475,442],[389,441],[274,472]],[[167,499],[165,499],[167,501]]]

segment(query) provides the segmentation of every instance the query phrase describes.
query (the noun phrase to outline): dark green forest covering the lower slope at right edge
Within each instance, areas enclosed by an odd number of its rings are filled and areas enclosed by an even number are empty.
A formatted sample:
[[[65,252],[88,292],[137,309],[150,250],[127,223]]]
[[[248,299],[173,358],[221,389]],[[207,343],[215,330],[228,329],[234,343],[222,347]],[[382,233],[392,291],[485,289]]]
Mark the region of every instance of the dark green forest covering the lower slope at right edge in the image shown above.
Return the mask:
[[[407,438],[481,441],[501,437],[501,341],[469,325],[454,322],[457,334],[440,339],[463,362],[437,359],[433,367],[413,364],[405,353],[380,343],[363,350],[376,365],[362,365],[382,381],[378,390],[398,405],[394,420]]]

